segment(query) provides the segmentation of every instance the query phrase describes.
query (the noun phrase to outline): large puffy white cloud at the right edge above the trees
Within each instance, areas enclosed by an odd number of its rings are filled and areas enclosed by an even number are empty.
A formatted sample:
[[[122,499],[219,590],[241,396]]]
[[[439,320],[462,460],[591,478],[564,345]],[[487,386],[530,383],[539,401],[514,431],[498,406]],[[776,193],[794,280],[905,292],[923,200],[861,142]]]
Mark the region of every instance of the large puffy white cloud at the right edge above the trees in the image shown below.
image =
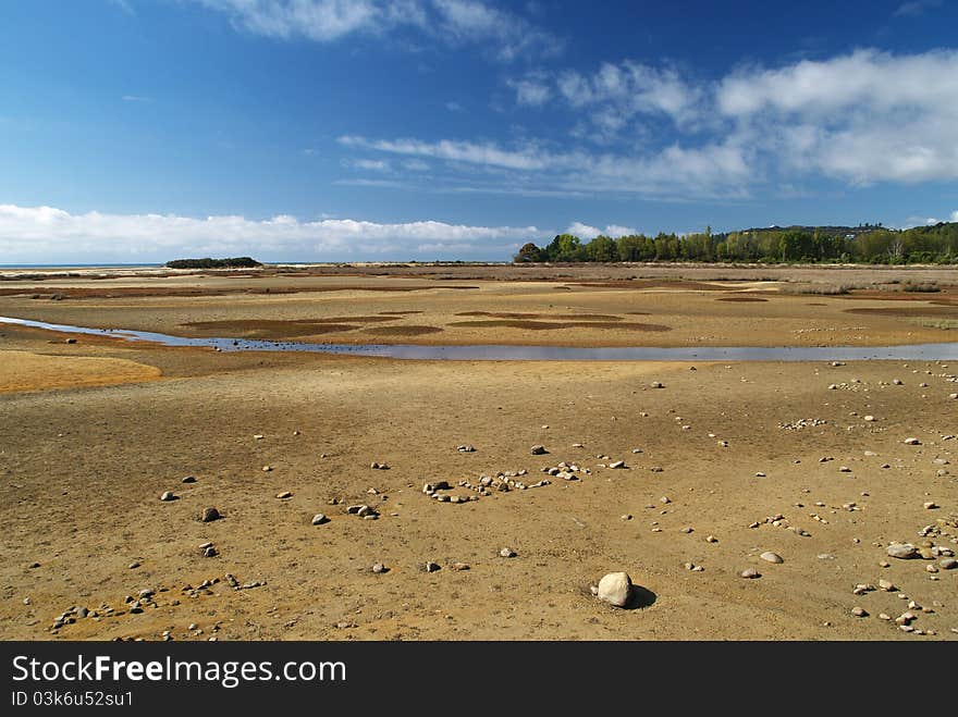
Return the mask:
[[[958,178],[958,51],[875,50],[722,81],[716,108],[786,172],[851,184]]]

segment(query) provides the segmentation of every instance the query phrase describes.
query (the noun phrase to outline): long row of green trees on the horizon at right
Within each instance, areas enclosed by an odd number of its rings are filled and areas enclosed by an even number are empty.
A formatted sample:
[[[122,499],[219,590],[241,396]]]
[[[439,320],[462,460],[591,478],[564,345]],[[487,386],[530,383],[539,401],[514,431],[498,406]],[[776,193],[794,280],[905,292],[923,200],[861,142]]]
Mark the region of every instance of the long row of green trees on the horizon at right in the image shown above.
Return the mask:
[[[524,262],[701,261],[742,263],[958,263],[958,222],[888,230],[851,227],[771,227],[713,234],[656,236],[634,234],[614,239],[599,235],[582,242],[558,234],[544,247],[532,242],[513,257]]]

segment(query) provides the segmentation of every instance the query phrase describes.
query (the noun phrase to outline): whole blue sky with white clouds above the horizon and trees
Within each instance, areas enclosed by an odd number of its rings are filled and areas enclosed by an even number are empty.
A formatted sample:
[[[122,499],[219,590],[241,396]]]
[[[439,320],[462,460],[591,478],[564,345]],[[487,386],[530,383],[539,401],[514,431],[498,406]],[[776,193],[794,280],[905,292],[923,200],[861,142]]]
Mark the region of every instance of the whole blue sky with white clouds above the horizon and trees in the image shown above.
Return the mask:
[[[0,2],[0,263],[958,221],[958,3]]]

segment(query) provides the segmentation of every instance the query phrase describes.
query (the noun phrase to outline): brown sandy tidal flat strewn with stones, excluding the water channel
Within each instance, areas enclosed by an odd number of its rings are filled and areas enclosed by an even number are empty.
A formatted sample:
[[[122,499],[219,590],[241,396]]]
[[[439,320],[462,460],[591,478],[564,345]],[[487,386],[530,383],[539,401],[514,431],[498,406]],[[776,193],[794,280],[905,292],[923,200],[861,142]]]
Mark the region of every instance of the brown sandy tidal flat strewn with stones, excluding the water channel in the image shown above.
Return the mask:
[[[50,300],[27,282],[0,314],[354,343],[774,346],[945,342],[958,311],[946,285],[123,281],[150,290],[66,282]],[[243,290],[157,290],[186,281]],[[245,290],[262,286],[291,290]],[[3,639],[958,639],[947,361],[394,361],[0,334]],[[422,493],[440,481],[447,502]],[[202,522],[207,507],[221,519]],[[634,609],[590,591],[618,570],[642,589]]]

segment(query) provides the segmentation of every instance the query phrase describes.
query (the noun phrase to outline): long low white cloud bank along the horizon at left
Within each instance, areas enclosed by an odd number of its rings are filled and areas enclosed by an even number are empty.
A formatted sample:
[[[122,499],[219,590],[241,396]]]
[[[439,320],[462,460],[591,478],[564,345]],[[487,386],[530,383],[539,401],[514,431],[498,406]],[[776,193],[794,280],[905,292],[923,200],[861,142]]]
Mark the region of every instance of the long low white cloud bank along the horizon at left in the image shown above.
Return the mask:
[[[517,244],[548,236],[536,226],[469,226],[435,221],[398,224],[278,215],[195,219],[173,214],[74,214],[53,207],[0,205],[0,256],[5,263],[167,261],[195,256],[265,260],[335,260],[364,252],[400,259],[476,254],[507,258]],[[434,250],[420,247],[438,247]]]

